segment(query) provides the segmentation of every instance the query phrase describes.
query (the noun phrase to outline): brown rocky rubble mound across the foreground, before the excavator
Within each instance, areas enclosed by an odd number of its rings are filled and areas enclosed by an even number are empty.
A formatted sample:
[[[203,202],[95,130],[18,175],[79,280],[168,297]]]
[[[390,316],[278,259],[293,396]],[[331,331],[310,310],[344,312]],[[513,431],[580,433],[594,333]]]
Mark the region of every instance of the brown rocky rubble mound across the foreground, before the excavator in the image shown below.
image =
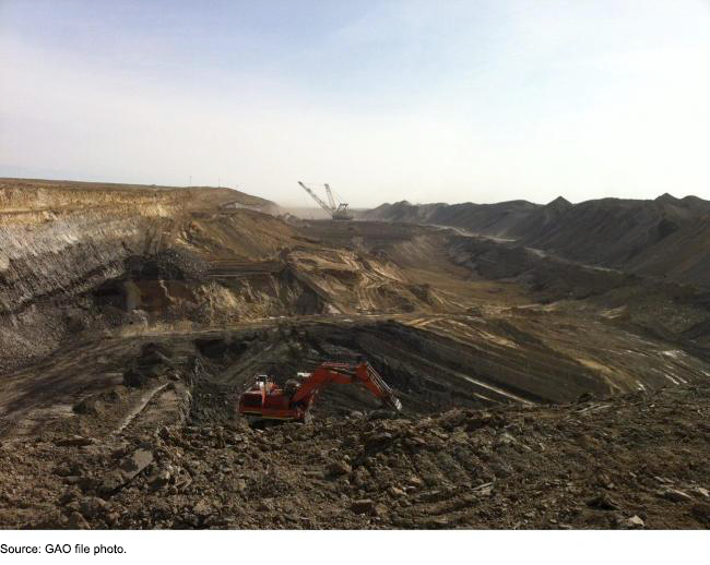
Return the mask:
[[[10,528],[707,528],[710,387],[0,446]]]

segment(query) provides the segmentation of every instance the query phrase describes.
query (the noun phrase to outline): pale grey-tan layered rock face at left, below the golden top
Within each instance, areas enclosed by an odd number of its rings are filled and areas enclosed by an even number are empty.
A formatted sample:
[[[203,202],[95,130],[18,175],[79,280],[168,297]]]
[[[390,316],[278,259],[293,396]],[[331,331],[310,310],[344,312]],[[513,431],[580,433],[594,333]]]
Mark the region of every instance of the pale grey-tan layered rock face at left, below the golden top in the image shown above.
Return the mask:
[[[128,256],[150,252],[152,236],[168,227],[164,212],[153,203],[146,217],[128,206],[0,211],[0,368],[85,329],[86,296],[119,277]]]

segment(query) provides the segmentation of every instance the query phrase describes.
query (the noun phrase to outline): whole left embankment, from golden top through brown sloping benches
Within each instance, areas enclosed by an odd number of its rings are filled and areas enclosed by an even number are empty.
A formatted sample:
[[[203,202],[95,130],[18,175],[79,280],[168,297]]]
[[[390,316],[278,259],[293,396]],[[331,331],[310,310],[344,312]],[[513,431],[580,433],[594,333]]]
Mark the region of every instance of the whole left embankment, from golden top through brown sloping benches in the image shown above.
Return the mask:
[[[436,303],[395,265],[309,240],[229,189],[4,179],[0,196],[2,371],[122,326]]]

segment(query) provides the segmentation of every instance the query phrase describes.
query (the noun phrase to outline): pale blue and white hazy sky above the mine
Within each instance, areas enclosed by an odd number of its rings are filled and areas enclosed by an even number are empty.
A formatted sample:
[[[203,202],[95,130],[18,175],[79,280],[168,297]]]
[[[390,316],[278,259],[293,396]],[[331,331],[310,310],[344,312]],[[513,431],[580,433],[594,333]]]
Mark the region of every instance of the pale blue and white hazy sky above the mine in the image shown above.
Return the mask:
[[[710,2],[0,0],[0,176],[710,199]]]

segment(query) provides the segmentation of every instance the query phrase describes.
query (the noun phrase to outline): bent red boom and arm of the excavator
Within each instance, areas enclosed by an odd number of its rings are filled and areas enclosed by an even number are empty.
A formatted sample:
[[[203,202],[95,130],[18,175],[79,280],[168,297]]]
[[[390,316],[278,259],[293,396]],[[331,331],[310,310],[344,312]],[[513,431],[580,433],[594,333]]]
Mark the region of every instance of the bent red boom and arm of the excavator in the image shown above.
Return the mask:
[[[400,411],[402,402],[394,395],[394,390],[382,380],[369,363],[359,363],[355,366],[345,363],[322,363],[296,390],[292,402],[308,400],[330,383],[355,384],[365,386],[374,396],[383,400],[392,409]]]

